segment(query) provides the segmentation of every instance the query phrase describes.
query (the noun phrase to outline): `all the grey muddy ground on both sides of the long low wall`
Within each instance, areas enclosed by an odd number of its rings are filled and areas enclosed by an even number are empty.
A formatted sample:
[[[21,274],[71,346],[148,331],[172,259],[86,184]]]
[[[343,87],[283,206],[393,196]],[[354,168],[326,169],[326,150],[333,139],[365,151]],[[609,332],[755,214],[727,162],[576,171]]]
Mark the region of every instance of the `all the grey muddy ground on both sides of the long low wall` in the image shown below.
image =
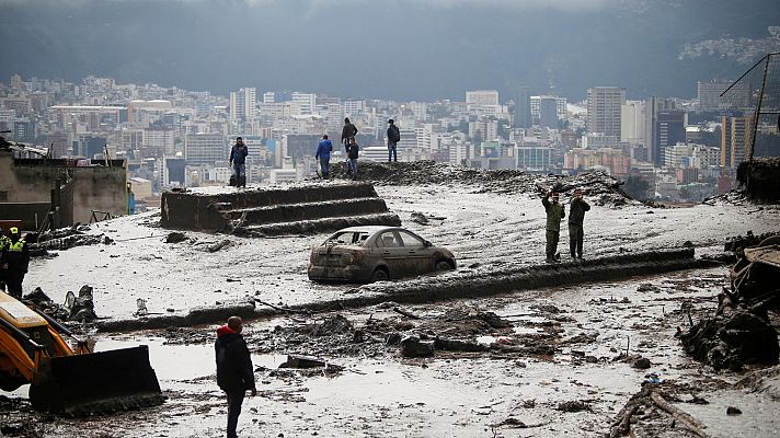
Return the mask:
[[[507,181],[526,176],[513,178]],[[458,257],[457,270],[436,278],[487,276],[543,262],[544,212],[536,183],[543,188],[550,182],[529,180],[518,189],[441,181],[377,186],[405,227]],[[715,201],[659,208],[615,203],[620,198],[615,192],[608,201],[597,203],[597,196],[586,197],[594,206],[586,215],[586,257],[686,242],[698,256],[716,255],[725,238],[748,230],[777,231],[780,223],[777,206]],[[39,286],[61,301],[67,290],[90,285],[97,315],[117,320],[135,318],[138,298],[153,316],[183,314],[246,295],[276,306],[305,306],[378,287],[311,284],[306,278],[309,249],[325,234],[250,240],[185,232],[185,240],[165,243],[169,230],[157,221],[151,212],[91,226],[88,233],[110,240],[35,260],[25,290]],[[565,260],[565,231],[562,234]],[[239,434],[605,436],[632,395],[651,384],[674,406],[695,415],[709,436],[777,436],[777,379],[755,378],[753,384],[737,385],[753,368],[715,372],[688,358],[675,338],[679,326],[715,309],[726,273],[714,267],[491,298],[390,302],[252,321],[245,336],[259,396],[244,402]],[[399,283],[423,280],[431,278]],[[214,376],[215,327],[94,334],[99,349],[150,346],[168,396],[163,406],[65,419],[33,413],[22,388],[0,397],[0,431],[30,437],[222,436],[226,410]],[[403,356],[400,341],[409,345],[410,338],[420,339],[417,354],[433,347],[433,356]],[[313,356],[329,366],[278,368],[290,354]],[[697,404],[701,399],[708,404]],[[730,405],[742,414],[726,415]],[[633,420],[636,436],[693,436],[652,405],[641,407]]]

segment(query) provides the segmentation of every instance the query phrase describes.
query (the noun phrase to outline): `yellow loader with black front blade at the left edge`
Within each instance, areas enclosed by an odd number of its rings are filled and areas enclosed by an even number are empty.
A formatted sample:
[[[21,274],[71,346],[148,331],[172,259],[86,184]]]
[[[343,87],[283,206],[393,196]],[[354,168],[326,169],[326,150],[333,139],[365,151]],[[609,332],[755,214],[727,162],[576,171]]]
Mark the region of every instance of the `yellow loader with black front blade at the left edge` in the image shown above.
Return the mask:
[[[62,335],[73,339],[74,348]],[[93,353],[32,303],[0,292],[0,389],[13,391],[26,383],[35,410],[62,415],[163,402],[147,346]]]

